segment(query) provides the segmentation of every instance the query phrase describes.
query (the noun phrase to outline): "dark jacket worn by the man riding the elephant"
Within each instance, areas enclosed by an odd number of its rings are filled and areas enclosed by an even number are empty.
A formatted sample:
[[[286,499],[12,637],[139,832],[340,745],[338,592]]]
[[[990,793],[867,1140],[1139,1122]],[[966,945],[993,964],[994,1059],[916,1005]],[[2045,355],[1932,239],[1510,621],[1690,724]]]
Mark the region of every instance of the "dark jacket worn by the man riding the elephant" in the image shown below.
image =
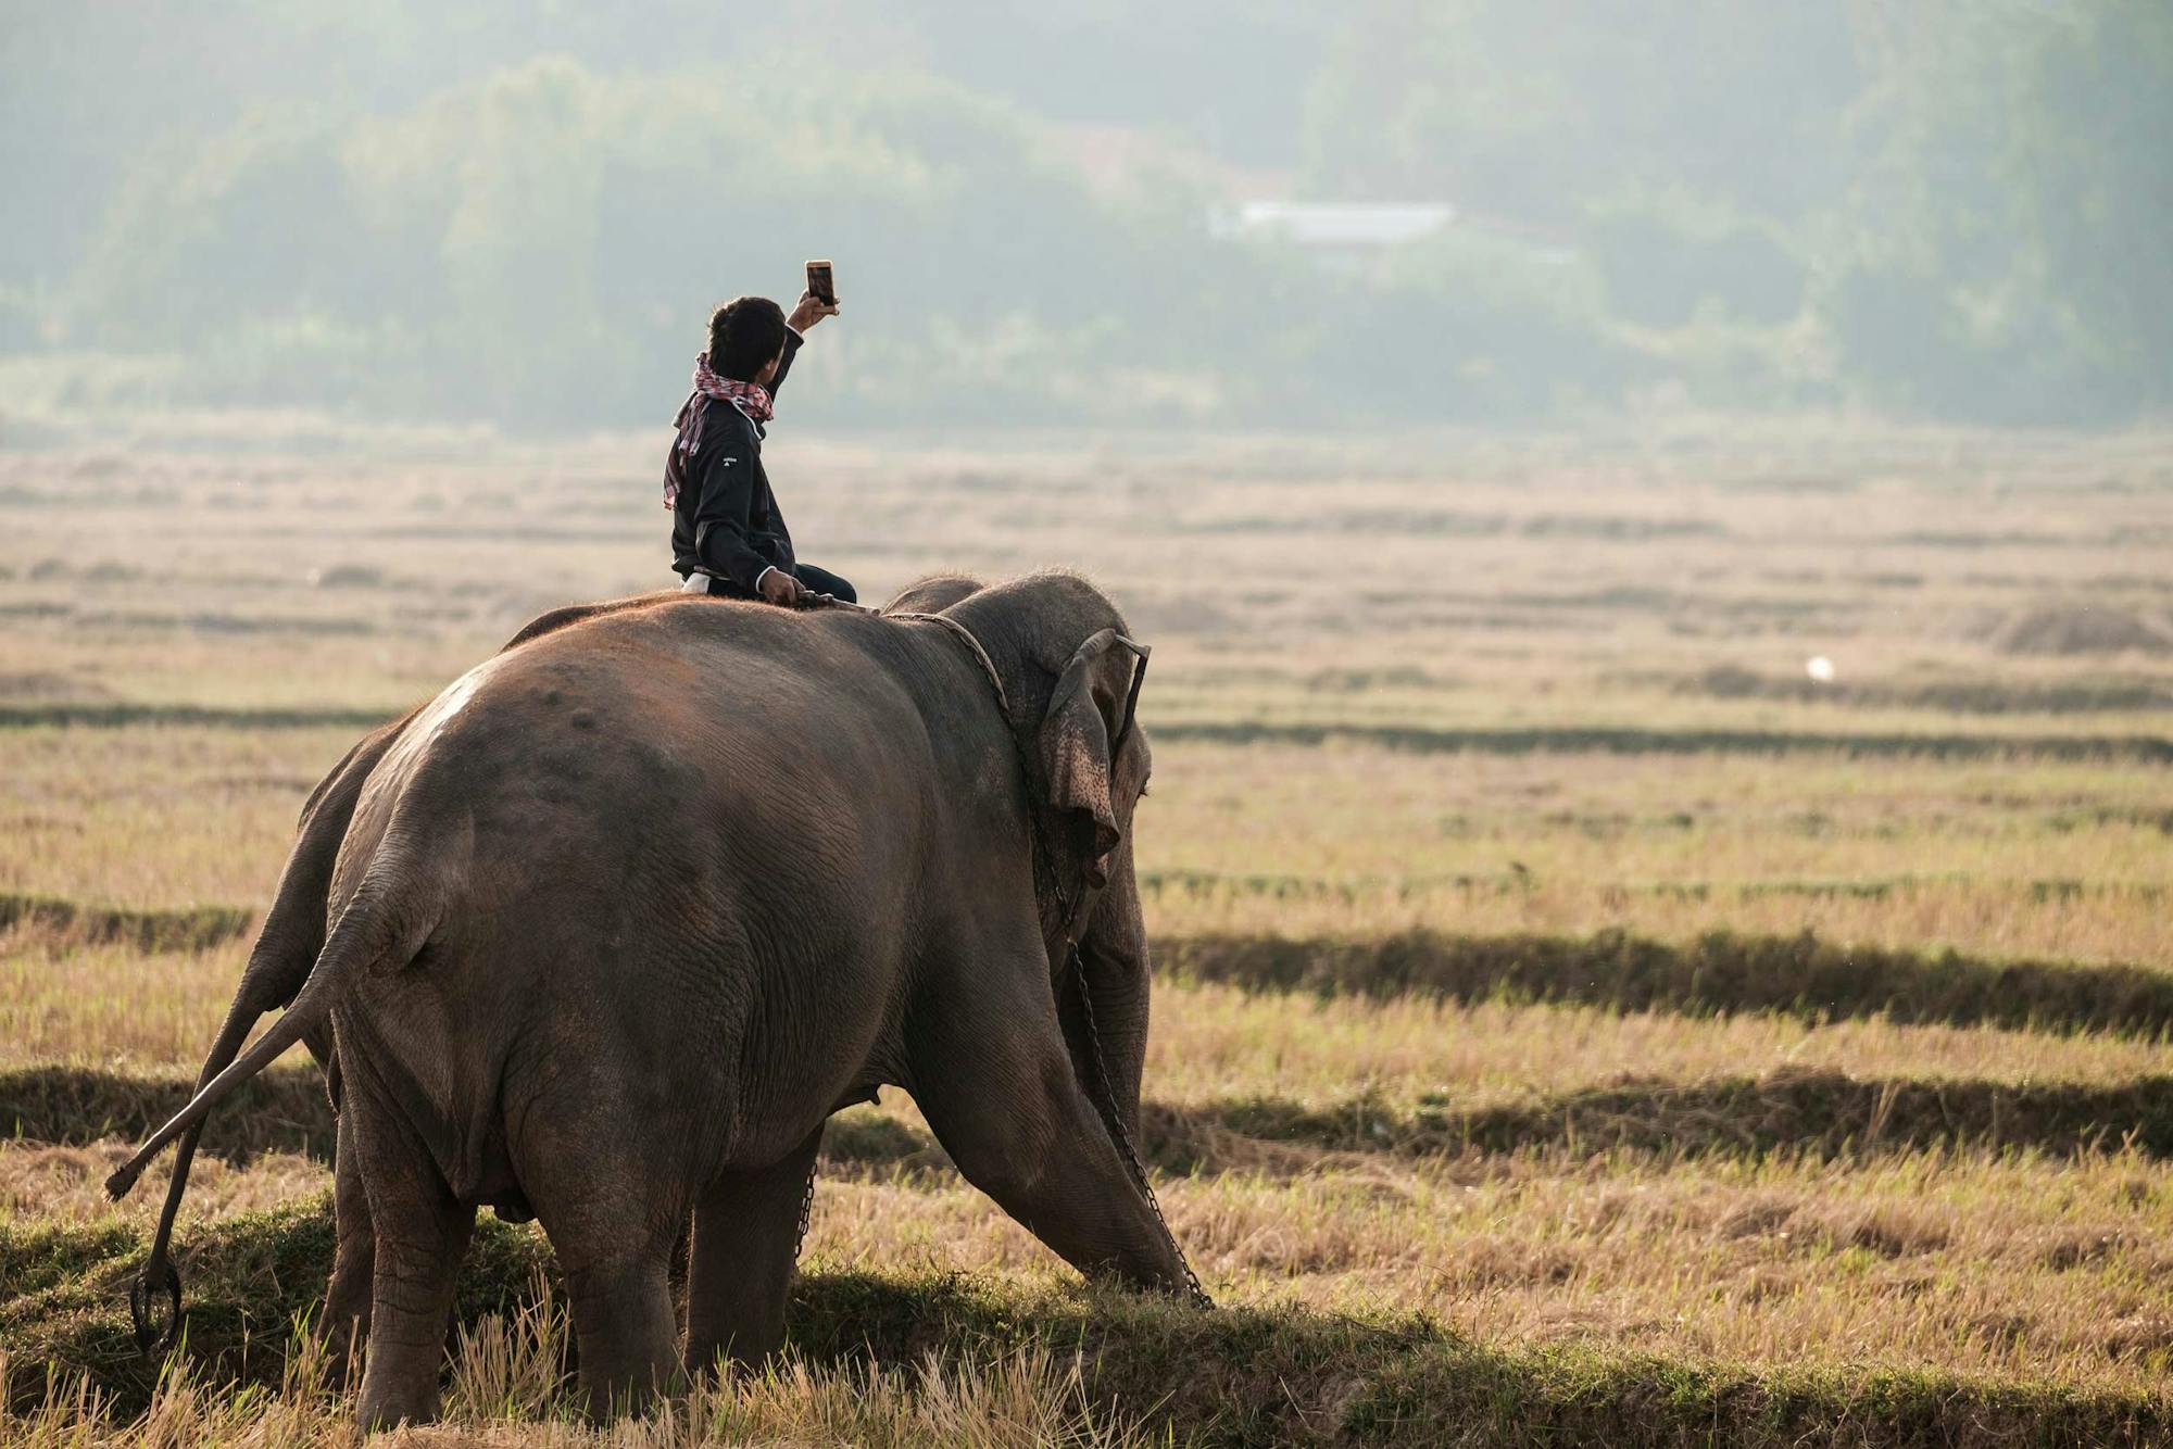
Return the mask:
[[[771,395],[784,387],[797,352],[800,332],[787,328]],[[687,458],[687,482],[671,511],[671,567],[680,578],[702,569],[739,593],[754,593],[763,569],[793,571],[793,537],[763,471],[763,426],[730,402],[711,398],[702,415],[702,445]]]

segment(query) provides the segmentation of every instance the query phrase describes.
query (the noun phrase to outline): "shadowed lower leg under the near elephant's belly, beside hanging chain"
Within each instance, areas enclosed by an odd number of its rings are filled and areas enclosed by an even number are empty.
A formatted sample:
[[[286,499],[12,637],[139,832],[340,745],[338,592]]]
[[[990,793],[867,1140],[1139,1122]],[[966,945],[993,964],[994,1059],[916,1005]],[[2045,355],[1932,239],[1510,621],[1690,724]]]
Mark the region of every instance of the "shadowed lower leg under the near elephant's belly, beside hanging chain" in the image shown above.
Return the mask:
[[[687,1373],[719,1356],[758,1364],[784,1343],[784,1295],[800,1247],[800,1208],[815,1171],[821,1127],[782,1162],[730,1173],[693,1210],[687,1269]]]

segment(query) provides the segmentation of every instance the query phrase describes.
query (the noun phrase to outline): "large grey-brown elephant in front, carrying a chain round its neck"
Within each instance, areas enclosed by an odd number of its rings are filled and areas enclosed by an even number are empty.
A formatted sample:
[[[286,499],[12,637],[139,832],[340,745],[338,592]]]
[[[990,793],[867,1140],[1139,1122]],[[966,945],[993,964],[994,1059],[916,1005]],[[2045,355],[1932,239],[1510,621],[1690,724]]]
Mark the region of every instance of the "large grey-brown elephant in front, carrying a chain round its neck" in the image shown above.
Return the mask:
[[[1143,669],[1071,574],[908,619],[656,597],[526,637],[385,743],[291,1006],[109,1188],[330,1025],[365,1425],[435,1416],[478,1206],[541,1219],[591,1410],[761,1360],[821,1123],[884,1084],[1076,1269],[1204,1299],[1130,1154]]]

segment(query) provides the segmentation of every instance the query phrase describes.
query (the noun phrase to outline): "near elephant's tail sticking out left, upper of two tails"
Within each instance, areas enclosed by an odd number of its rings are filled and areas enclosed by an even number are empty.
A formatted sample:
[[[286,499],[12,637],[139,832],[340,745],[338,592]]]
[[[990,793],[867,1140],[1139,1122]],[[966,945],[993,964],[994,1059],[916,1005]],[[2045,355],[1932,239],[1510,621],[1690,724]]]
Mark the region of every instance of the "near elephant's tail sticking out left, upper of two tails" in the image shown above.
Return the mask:
[[[204,1121],[222,1097],[322,1025],[330,1017],[339,993],[359,971],[413,958],[437,928],[437,902],[426,891],[419,891],[419,871],[409,869],[395,852],[380,852],[369,862],[369,871],[363,875],[363,884],[356,886],[346,910],[339,912],[339,923],[326,938],[324,952],[317,954],[317,965],[311,967],[309,980],[302,984],[300,995],[296,995],[293,1006],[272,1023],[272,1030],[256,1045],[219,1071],[219,1075],[204,1082],[185,1108],[174,1112],[133,1158],[106,1177],[106,1195],[115,1199],[126,1197],[128,1188],[137,1184],[137,1177],[143,1175],[143,1169],[167,1143]]]

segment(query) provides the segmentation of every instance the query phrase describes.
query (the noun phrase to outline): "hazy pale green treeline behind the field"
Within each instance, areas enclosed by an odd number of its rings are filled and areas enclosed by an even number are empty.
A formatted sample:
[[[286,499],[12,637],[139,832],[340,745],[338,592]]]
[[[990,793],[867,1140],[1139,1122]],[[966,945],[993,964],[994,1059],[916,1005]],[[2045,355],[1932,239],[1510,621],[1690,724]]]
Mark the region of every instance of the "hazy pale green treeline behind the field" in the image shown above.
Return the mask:
[[[2173,400],[2162,0],[30,4],[11,411],[593,426],[834,256],[797,415]],[[1254,196],[1443,202],[1328,256]]]

